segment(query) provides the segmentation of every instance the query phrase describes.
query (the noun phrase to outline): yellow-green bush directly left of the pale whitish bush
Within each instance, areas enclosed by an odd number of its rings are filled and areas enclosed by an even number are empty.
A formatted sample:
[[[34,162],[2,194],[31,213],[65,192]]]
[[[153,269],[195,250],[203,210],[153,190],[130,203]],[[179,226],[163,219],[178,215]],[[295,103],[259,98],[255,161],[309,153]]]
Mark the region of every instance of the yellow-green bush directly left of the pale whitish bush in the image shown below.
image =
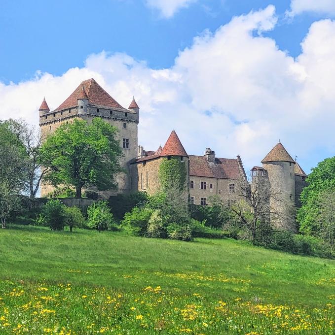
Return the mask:
[[[144,236],[147,233],[148,223],[153,210],[148,207],[134,207],[124,215],[121,221],[122,227],[137,236]]]

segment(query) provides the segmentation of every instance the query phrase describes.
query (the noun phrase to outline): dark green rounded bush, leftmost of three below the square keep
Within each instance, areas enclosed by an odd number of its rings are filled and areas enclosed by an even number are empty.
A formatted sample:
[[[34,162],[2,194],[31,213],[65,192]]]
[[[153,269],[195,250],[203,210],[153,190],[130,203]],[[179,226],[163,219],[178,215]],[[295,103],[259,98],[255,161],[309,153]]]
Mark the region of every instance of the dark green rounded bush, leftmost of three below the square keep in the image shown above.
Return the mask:
[[[42,206],[36,223],[50,227],[51,230],[63,230],[66,220],[65,205],[59,200],[49,200]]]

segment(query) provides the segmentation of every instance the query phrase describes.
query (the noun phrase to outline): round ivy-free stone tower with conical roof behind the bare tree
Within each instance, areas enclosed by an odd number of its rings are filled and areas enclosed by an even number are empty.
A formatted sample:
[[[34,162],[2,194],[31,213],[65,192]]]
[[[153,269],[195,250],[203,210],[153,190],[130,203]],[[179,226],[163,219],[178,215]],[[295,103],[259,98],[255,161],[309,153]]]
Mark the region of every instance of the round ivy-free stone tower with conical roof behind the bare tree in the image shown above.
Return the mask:
[[[295,164],[279,142],[261,161],[270,185],[271,223],[278,229],[295,230]]]

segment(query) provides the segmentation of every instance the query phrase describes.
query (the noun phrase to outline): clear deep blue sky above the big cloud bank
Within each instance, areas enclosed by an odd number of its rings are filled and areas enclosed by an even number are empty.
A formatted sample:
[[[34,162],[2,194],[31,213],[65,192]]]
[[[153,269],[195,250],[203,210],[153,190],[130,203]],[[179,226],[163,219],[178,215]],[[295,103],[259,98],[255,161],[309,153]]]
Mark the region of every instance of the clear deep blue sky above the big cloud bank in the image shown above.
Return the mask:
[[[141,0],[1,0],[0,80],[30,79],[36,70],[61,75],[82,66],[89,54],[125,52],[149,67],[170,67],[178,51],[205,29],[215,31],[232,16],[276,6],[280,24],[268,33],[282,50],[300,53],[316,15],[284,18],[290,0],[205,0],[162,18]]]

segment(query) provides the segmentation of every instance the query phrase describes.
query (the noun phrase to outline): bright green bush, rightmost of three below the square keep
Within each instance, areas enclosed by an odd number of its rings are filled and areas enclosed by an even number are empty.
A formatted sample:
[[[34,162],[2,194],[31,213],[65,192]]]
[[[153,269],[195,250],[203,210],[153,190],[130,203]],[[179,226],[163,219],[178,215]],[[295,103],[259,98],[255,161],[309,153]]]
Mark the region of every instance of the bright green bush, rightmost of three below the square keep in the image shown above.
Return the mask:
[[[87,207],[87,226],[97,229],[99,233],[116,229],[116,222],[107,201],[95,201]]]

